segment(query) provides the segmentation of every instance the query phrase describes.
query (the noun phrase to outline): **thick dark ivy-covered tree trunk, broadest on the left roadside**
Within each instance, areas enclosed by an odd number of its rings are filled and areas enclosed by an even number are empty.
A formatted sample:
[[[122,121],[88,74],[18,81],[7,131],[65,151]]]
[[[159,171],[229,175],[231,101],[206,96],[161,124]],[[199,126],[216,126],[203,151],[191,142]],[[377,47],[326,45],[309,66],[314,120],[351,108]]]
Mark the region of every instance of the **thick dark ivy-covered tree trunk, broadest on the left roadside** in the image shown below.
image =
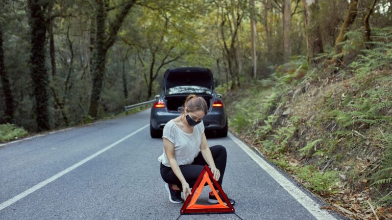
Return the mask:
[[[34,83],[35,115],[38,131],[49,129],[48,73],[45,68],[46,7],[40,0],[29,0],[30,14],[30,73]]]

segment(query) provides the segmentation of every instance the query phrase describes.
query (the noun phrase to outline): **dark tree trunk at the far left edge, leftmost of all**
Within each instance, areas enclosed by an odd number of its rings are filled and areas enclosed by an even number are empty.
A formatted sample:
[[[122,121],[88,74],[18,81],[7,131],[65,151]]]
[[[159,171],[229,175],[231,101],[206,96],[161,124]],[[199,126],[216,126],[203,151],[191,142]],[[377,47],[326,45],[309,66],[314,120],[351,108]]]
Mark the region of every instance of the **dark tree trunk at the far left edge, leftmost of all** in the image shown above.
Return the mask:
[[[5,71],[4,65],[4,51],[3,51],[3,32],[2,23],[0,22],[0,76],[1,84],[4,94],[4,106],[5,106],[5,123],[12,123],[14,121],[14,100],[12,98],[11,85],[8,80],[8,74]],[[0,121],[0,123],[3,123]]]

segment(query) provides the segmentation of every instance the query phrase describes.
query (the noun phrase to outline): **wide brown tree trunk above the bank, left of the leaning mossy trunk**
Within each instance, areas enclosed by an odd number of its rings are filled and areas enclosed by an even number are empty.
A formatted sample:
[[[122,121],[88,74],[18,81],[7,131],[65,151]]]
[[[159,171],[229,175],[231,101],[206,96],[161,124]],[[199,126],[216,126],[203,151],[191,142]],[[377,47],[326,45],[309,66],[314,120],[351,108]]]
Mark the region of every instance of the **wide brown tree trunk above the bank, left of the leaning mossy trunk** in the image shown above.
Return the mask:
[[[302,0],[302,3],[304,5],[308,62],[313,64],[313,58],[324,52],[320,27],[316,19],[319,13],[319,2],[318,0]]]

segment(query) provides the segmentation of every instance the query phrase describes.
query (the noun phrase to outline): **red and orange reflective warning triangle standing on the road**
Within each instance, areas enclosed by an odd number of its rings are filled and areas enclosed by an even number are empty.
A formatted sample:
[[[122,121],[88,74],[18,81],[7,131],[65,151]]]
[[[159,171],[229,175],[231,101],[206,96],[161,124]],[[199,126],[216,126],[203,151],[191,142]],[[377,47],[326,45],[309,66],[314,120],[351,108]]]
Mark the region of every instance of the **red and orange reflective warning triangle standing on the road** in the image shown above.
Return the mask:
[[[211,182],[212,180],[212,182]],[[199,198],[201,191],[205,183],[208,183],[213,194],[218,199],[219,204],[214,205],[198,205],[195,204],[197,198]],[[214,188],[214,185],[218,188],[219,192],[223,197],[222,199],[218,196],[217,191]],[[227,204],[224,204],[224,202]],[[195,185],[192,188],[192,194],[188,196],[185,200],[184,205],[181,208],[181,215],[183,214],[214,214],[214,213],[234,213],[234,208],[231,205],[229,199],[226,194],[223,192],[221,185],[214,179],[214,175],[211,173],[211,170],[207,165],[204,166],[203,170],[200,173],[200,176],[197,178]]]

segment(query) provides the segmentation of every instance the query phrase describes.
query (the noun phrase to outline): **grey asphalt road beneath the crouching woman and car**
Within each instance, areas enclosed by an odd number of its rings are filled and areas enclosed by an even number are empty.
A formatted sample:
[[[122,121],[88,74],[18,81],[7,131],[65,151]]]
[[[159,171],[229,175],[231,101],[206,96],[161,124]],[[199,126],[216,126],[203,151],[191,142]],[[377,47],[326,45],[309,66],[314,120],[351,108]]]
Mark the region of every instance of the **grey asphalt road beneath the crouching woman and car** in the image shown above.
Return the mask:
[[[341,219],[283,172],[264,170],[231,137],[207,140],[226,147],[222,188],[236,214],[180,216],[182,204],[169,202],[159,173],[162,139],[149,135],[149,112],[0,147],[0,219]]]

